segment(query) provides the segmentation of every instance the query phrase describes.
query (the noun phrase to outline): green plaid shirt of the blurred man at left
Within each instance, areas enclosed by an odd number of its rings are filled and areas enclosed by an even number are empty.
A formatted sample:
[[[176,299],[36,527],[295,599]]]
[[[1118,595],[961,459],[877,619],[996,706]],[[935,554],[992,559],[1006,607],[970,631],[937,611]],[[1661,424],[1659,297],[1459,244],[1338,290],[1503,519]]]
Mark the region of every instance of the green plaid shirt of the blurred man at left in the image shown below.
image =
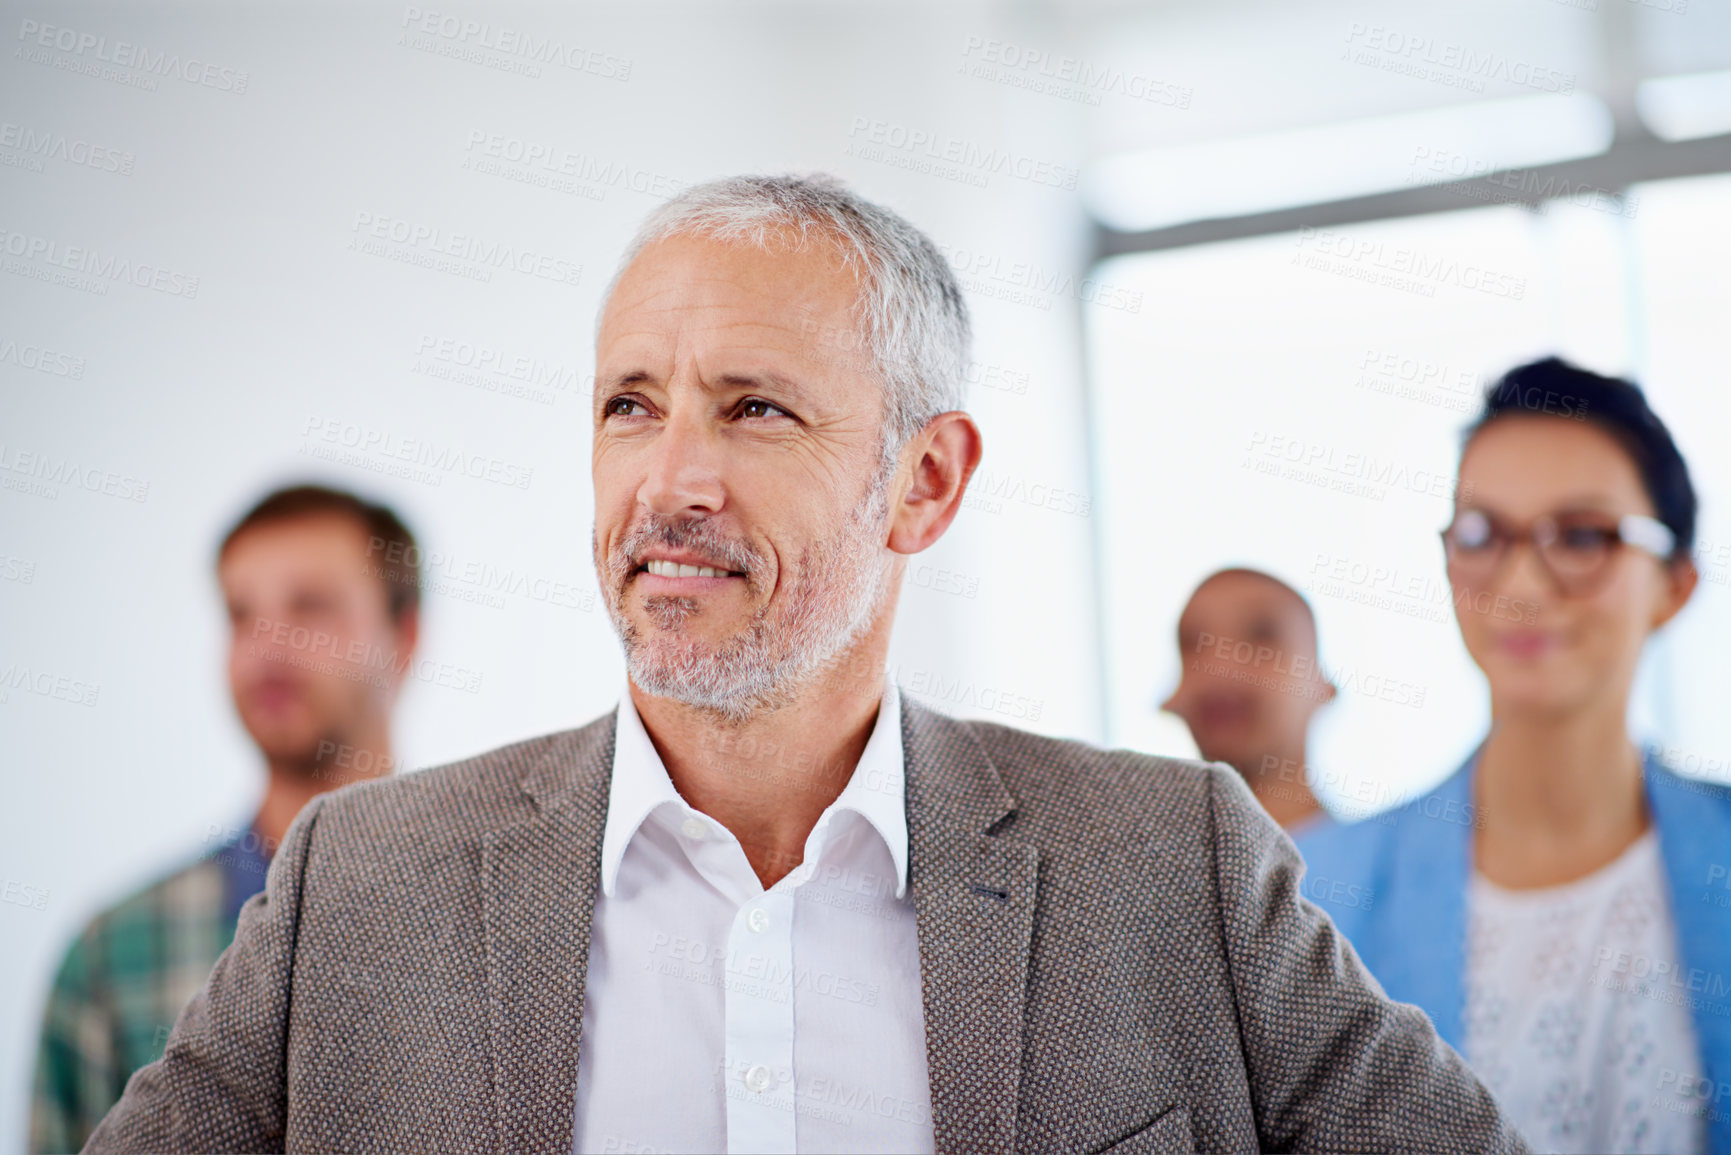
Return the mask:
[[[244,843],[225,843],[85,926],[48,992],[33,1152],[80,1150],[132,1074],[163,1056],[182,1008],[234,942],[241,904],[265,888],[265,866]]]

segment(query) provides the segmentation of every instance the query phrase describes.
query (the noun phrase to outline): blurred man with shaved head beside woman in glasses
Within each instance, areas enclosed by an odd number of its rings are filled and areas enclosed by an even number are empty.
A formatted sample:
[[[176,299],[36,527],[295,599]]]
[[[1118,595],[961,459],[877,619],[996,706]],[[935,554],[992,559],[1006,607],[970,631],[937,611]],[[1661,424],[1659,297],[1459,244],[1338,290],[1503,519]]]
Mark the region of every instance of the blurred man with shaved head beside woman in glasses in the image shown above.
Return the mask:
[[[1317,665],[1316,616],[1260,570],[1220,570],[1179,616],[1182,672],[1163,710],[1208,762],[1226,762],[1288,831],[1328,823],[1305,781],[1310,719],[1335,700]]]

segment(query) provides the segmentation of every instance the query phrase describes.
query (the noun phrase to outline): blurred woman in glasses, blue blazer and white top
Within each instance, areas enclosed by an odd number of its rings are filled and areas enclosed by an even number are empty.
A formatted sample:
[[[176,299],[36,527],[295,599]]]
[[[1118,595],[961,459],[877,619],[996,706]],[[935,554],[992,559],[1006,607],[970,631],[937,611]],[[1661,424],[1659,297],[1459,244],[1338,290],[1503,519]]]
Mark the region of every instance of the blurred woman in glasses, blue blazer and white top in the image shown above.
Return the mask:
[[[1392,819],[1298,838],[1305,890],[1354,899],[1328,911],[1361,959],[1539,1152],[1731,1155],[1731,790],[1627,727],[1695,511],[1634,384],[1549,358],[1490,386],[1442,532],[1490,731]]]

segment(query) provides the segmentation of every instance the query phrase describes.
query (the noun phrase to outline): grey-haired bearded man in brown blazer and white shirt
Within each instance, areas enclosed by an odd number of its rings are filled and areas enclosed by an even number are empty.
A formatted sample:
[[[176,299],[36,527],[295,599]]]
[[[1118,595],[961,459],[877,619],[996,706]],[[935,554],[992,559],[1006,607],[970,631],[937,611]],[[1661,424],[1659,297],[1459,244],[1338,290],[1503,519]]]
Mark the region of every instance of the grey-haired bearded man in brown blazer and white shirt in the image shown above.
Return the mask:
[[[885,686],[966,345],[836,184],[651,216],[597,341],[618,712],[315,800],[92,1150],[1515,1146],[1231,771]]]

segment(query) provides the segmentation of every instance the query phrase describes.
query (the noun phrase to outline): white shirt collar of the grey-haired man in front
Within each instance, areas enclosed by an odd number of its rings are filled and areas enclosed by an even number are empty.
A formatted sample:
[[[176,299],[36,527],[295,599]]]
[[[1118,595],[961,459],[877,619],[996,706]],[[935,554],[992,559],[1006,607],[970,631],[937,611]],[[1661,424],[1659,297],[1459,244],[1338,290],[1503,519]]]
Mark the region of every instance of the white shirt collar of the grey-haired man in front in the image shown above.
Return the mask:
[[[613,738],[613,781],[608,786],[608,824],[601,836],[601,892],[609,899],[618,887],[620,864],[625,849],[644,821],[663,805],[696,814],[673,790],[673,779],[661,764],[661,755],[642,717],[632,703],[630,686],[620,694],[620,708]],[[805,840],[807,864],[824,845],[831,819],[852,810],[871,823],[883,838],[895,862],[895,897],[907,894],[907,771],[902,760],[902,696],[888,684],[878,703],[878,722],[872,726],[859,765],[848,784],[817,819]]]

